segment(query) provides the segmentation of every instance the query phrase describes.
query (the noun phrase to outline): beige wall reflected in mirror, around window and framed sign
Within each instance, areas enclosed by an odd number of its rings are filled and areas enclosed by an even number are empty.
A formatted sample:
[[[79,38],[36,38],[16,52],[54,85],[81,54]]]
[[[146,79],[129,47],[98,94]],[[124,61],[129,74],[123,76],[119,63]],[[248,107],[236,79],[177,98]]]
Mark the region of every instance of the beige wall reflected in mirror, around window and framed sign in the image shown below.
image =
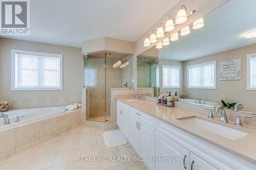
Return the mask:
[[[246,90],[246,55],[256,53],[256,44],[244,46],[234,50],[217,53],[210,56],[205,56],[184,62],[184,91],[188,98],[201,98],[207,101],[221,102],[226,100],[228,103],[242,103],[244,111],[255,112],[256,91]],[[242,75],[241,80],[220,81],[220,61],[227,59],[242,58]],[[188,89],[187,88],[187,66],[208,62],[217,61],[217,89]]]

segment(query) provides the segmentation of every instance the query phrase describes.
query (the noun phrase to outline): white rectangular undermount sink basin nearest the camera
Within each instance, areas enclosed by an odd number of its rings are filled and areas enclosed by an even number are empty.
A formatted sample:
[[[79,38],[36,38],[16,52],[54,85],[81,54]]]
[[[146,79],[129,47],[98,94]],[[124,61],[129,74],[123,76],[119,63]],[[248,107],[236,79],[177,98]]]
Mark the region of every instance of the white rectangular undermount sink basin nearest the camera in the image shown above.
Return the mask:
[[[249,134],[247,132],[243,132],[243,131],[232,129],[219,124],[211,123],[197,117],[189,117],[189,118],[179,119],[179,120],[191,126],[194,126],[196,128],[204,129],[206,131],[226,137],[231,140],[235,140]]]

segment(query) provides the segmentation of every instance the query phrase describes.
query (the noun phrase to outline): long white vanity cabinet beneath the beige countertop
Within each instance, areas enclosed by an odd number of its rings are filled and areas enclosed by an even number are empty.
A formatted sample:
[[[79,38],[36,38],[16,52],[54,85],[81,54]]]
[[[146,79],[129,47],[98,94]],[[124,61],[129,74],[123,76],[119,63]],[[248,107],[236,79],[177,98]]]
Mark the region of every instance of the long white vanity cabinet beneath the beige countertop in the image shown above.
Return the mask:
[[[121,111],[122,110],[122,111]],[[122,114],[121,114],[122,113]],[[117,125],[151,170],[255,170],[256,165],[163,120],[117,101]],[[148,161],[177,157],[179,161]]]

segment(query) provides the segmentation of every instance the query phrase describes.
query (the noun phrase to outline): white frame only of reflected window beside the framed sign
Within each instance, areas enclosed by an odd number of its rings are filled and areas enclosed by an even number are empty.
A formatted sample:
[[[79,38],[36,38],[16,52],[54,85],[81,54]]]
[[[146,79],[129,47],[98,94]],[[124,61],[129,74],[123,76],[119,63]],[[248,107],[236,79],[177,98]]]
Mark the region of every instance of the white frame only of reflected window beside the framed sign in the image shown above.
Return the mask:
[[[217,61],[210,61],[210,62],[204,62],[204,63],[199,63],[199,64],[194,64],[194,65],[188,65],[187,66],[187,88],[188,89],[217,89],[217,85],[216,85],[216,76],[217,76],[217,67],[216,64]],[[189,68],[191,67],[198,67],[198,66],[204,66],[204,65],[208,65],[208,64],[214,64],[214,87],[202,87],[202,86],[189,86]]]

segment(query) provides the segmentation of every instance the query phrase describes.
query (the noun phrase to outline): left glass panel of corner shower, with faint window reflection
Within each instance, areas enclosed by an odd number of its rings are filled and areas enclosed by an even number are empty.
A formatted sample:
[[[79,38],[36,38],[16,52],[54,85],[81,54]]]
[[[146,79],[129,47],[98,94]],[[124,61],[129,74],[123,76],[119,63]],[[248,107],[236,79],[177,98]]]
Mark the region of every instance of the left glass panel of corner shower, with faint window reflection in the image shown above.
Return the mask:
[[[87,88],[87,119],[106,122],[105,53],[84,54],[84,87]]]

